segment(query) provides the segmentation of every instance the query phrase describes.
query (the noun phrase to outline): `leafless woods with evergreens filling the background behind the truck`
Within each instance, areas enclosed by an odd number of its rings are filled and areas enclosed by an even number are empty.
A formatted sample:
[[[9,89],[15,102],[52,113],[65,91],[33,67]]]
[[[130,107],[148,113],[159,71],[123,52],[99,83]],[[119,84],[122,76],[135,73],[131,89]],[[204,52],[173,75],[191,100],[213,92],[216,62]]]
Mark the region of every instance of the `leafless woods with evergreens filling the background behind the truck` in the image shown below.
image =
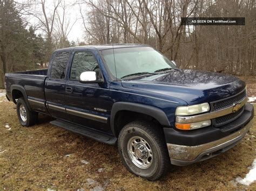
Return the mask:
[[[0,87],[7,72],[38,68],[57,48],[149,44],[180,68],[255,74],[254,0],[1,0]],[[82,40],[69,40],[75,21]],[[36,24],[31,24],[33,18]],[[181,17],[245,17],[241,26],[183,26]]]

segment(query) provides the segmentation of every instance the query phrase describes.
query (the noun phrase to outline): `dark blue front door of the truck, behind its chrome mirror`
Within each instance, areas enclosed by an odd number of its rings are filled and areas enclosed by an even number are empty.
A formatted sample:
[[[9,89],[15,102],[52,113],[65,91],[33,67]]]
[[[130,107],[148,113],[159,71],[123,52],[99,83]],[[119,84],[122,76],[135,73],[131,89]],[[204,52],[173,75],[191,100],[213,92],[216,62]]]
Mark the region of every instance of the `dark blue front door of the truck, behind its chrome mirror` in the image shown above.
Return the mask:
[[[66,81],[66,112],[69,121],[89,128],[109,132],[107,119],[110,116],[109,88],[107,82],[81,83],[79,76],[82,72],[94,71],[102,75],[97,59],[92,52],[76,51]]]

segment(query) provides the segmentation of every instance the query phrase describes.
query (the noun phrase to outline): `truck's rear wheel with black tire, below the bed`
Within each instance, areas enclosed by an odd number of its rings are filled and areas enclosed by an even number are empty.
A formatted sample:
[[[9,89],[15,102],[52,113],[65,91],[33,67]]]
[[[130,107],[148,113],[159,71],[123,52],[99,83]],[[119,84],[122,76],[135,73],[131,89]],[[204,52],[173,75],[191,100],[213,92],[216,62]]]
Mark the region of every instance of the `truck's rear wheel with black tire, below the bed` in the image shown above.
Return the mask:
[[[26,119],[24,120],[24,118],[22,119],[22,115],[21,115],[21,107],[24,107],[23,109],[25,110],[25,115],[26,115]],[[38,121],[38,113],[35,111],[31,111],[28,108],[28,105],[26,104],[25,100],[23,97],[18,98],[17,101],[17,116],[19,119],[19,123],[21,123],[22,126],[31,126],[31,125],[35,125]]]

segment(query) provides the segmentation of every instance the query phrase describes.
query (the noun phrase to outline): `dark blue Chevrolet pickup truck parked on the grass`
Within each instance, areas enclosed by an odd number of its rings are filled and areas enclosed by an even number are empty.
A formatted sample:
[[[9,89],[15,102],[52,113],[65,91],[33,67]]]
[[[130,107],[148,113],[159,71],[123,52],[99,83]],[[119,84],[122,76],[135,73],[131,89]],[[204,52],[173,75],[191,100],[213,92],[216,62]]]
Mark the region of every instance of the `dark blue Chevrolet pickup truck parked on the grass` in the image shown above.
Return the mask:
[[[50,115],[53,125],[117,144],[125,167],[151,181],[171,164],[232,148],[254,115],[237,77],[179,69],[138,44],[58,49],[48,69],[5,74],[5,89],[21,125]]]

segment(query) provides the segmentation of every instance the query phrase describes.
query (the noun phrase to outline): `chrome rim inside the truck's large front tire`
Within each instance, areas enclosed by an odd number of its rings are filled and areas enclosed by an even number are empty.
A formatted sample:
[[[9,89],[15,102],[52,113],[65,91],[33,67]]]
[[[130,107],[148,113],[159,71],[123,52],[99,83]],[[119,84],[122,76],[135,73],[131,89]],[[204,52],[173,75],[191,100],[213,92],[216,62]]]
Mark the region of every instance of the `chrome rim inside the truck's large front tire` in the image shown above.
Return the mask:
[[[142,137],[131,137],[127,144],[127,152],[133,164],[139,168],[149,168],[153,153],[150,145]]]

